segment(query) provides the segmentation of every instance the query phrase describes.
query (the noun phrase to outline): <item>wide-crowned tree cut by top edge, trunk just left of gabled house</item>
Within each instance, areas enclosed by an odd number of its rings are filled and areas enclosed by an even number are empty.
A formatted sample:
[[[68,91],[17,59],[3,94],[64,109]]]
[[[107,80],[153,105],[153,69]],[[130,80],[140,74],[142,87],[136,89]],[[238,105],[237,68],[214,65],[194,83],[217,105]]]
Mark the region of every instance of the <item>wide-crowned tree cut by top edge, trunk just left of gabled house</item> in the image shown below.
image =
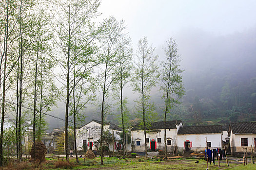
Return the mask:
[[[65,153],[66,160],[69,161],[68,154],[68,117],[70,95],[74,88],[70,86],[73,81],[71,73],[76,65],[76,57],[74,51],[80,55],[86,56],[88,45],[95,37],[93,33],[94,23],[91,19],[98,16],[97,9],[100,4],[99,0],[55,0],[51,9],[53,18],[53,30],[55,31],[55,44],[58,49],[59,68],[61,75],[59,82],[66,89],[65,96]],[[79,56],[80,56],[79,55]],[[84,72],[86,69],[84,70]],[[83,71],[82,71],[83,72]],[[79,83],[77,79],[77,84]]]

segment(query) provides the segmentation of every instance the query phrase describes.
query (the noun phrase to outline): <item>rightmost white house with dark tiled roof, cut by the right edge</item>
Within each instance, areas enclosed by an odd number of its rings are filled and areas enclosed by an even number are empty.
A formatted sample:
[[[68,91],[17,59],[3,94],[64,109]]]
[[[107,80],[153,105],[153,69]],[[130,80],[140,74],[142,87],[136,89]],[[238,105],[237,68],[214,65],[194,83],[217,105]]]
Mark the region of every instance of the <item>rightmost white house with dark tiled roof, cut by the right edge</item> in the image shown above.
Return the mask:
[[[231,123],[229,127],[231,154],[243,154],[243,148],[256,147],[256,121]]]

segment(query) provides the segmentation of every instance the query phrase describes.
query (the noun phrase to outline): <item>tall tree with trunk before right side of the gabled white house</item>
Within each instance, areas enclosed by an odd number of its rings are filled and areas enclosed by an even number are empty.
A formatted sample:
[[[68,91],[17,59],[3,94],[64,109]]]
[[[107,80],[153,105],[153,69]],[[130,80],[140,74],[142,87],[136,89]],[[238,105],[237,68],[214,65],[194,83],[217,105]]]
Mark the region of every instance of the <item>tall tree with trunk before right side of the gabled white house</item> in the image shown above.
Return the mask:
[[[115,17],[109,17],[103,20],[101,23],[102,34],[99,36],[101,61],[103,66],[100,68],[100,74],[98,77],[98,84],[102,90],[102,102],[101,106],[101,135],[103,137],[103,125],[104,119],[110,111],[110,105],[106,102],[109,97],[109,90],[113,81],[116,79],[117,75],[113,74],[113,70],[118,63],[117,54],[118,51],[129,43],[129,40],[125,41],[124,33],[124,21],[118,22]],[[102,141],[100,140],[100,164],[103,164],[103,147]]]

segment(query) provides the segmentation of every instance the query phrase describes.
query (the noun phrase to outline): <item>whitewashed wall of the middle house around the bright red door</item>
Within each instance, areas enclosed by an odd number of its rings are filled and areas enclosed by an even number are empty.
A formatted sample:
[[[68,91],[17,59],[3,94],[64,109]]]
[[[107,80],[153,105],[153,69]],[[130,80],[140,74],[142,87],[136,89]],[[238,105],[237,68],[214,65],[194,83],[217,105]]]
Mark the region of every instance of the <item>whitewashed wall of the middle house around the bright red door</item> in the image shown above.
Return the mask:
[[[166,129],[166,139],[171,140],[172,144],[167,145],[167,151],[173,151],[174,147],[177,145],[177,130],[182,126],[182,123],[176,127],[176,129]],[[153,130],[154,131],[154,130]],[[157,130],[156,130],[157,131]],[[150,139],[154,138],[157,142],[157,149],[164,151],[164,129],[158,129],[158,133],[147,133],[146,138]],[[158,138],[161,138],[161,142],[158,142]],[[136,141],[140,141],[140,146],[136,145]],[[133,152],[145,152],[145,138],[143,130],[134,130],[132,131],[132,142],[134,145],[132,146]],[[147,148],[149,149],[150,143],[147,143]]]

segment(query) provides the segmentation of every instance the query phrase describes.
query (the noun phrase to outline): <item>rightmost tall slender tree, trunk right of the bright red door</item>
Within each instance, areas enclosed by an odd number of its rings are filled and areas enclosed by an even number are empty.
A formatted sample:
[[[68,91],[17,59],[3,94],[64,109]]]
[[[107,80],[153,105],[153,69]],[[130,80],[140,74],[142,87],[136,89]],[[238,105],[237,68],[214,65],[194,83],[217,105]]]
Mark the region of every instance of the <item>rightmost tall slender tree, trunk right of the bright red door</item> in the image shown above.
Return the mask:
[[[163,91],[162,99],[164,99],[164,155],[167,159],[166,145],[166,115],[170,110],[179,104],[179,99],[184,95],[184,86],[182,81],[182,72],[179,68],[180,56],[177,53],[177,44],[172,37],[166,42],[164,48],[165,61],[161,62],[160,72],[160,90]]]

